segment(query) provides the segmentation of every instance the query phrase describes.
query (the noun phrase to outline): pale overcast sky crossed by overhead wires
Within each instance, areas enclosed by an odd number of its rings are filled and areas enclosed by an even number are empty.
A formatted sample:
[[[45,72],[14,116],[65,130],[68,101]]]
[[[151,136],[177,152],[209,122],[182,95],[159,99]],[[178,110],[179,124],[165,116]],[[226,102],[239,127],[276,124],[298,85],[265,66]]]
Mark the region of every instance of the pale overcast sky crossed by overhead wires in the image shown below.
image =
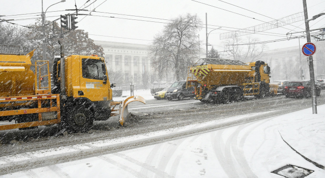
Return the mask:
[[[31,24],[35,18],[40,17],[42,11],[42,0],[0,0],[0,16],[5,15],[5,19],[15,19],[12,21],[20,25]],[[59,0],[43,0],[44,11],[53,3]],[[78,8],[84,8],[95,0],[76,0]],[[298,12],[303,12],[302,0],[224,0],[228,3],[237,5],[239,7],[254,11],[264,16],[240,9],[238,7],[229,5],[219,0],[196,0],[212,6],[220,7],[228,11],[232,11],[238,14],[227,12],[209,5],[198,3],[192,0],[97,0],[87,10],[93,10],[95,7],[97,12],[92,12],[94,16],[78,16],[77,21],[80,21],[77,26],[79,29],[83,29],[89,32],[90,38],[94,40],[114,41],[124,43],[136,43],[136,44],[149,44],[150,40],[155,34],[162,31],[164,23],[167,20],[187,13],[197,14],[202,23],[205,24],[205,13],[208,13],[208,32],[216,26],[223,26],[221,29],[214,30],[209,35],[209,43],[219,51],[224,50],[224,42],[220,40],[219,35],[223,32],[229,32],[234,29],[231,28],[247,28],[255,25],[262,24],[264,22],[272,21],[272,18],[278,19],[281,17],[289,16]],[[84,5],[85,4],[85,5]],[[101,4],[101,5],[100,5]],[[309,18],[325,11],[325,0],[307,0],[308,15]],[[54,20],[60,15],[67,13],[73,13],[73,11],[64,11],[66,9],[74,9],[75,0],[66,0],[51,6],[47,13],[47,20]],[[52,12],[59,11],[59,12]],[[103,13],[98,13],[103,12]],[[38,13],[32,15],[20,15],[28,13]],[[80,12],[82,14],[89,14],[89,12]],[[109,14],[112,13],[112,14]],[[114,13],[114,14],[113,14]],[[37,16],[35,16],[37,15]],[[130,16],[125,16],[130,15]],[[108,16],[108,17],[100,17]],[[112,16],[114,18],[109,18]],[[140,17],[141,16],[141,17]],[[248,16],[248,17],[245,17]],[[268,16],[268,17],[265,17]],[[82,19],[84,17],[84,19]],[[146,18],[151,17],[151,18]],[[254,17],[255,19],[249,18]],[[271,17],[271,18],[269,18]],[[124,19],[123,19],[124,18]],[[23,19],[23,20],[16,20]],[[82,19],[82,20],[81,20]],[[133,20],[132,20],[133,19]],[[135,20],[137,19],[137,20]],[[158,23],[163,22],[163,23]],[[3,23],[3,22],[2,22]],[[215,26],[209,26],[215,25]],[[321,16],[316,20],[309,23],[310,29],[317,29],[325,27],[325,16]],[[295,27],[294,27],[295,26]],[[226,28],[231,27],[231,28]],[[300,28],[296,28],[300,27]],[[289,30],[290,29],[290,30]],[[276,28],[273,30],[265,31],[263,34],[254,34],[254,37],[260,39],[260,41],[268,41],[275,39],[286,38],[286,33],[292,29],[297,32],[304,31],[305,24],[303,21],[292,23],[292,25],[286,25],[284,28]],[[205,26],[199,32],[200,41],[202,46],[205,44]],[[272,32],[272,33],[270,33]],[[293,32],[293,31],[292,31]],[[279,34],[275,34],[279,33]],[[93,35],[96,34],[96,35]],[[104,35],[104,36],[97,36]],[[107,37],[113,36],[113,37]],[[122,37],[122,38],[116,38]],[[245,38],[246,36],[242,36]],[[132,39],[126,39],[132,38]],[[141,40],[137,40],[141,39]],[[306,39],[301,40],[301,43],[307,42]],[[278,49],[285,47],[292,47],[298,45],[298,40],[293,39],[290,41],[282,41],[275,43],[268,43],[268,49]],[[211,48],[211,47],[209,47]]]

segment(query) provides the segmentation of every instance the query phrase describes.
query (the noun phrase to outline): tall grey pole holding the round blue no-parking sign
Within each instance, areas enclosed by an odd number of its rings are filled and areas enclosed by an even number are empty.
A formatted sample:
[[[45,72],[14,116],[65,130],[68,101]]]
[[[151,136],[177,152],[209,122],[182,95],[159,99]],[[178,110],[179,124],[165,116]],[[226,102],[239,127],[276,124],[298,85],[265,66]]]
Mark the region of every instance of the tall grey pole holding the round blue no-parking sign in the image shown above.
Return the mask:
[[[309,20],[308,20],[308,12],[307,12],[307,3],[306,0],[302,0],[304,6],[304,14],[305,14],[305,25],[306,25],[306,34],[307,34],[307,43],[310,42],[310,32],[309,32]],[[312,56],[309,56],[309,74],[310,74],[310,87],[312,89],[312,113],[317,113],[317,99],[315,92],[315,75],[314,75],[314,63],[312,60]]]

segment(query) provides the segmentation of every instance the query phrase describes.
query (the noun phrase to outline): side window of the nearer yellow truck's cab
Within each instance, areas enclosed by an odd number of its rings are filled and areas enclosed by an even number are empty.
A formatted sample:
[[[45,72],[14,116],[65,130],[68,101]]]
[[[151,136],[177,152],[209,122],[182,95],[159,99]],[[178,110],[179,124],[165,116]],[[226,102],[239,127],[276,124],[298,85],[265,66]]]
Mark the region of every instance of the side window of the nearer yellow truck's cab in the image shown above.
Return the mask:
[[[82,59],[82,77],[101,80],[106,73],[101,64],[102,61],[98,59]]]

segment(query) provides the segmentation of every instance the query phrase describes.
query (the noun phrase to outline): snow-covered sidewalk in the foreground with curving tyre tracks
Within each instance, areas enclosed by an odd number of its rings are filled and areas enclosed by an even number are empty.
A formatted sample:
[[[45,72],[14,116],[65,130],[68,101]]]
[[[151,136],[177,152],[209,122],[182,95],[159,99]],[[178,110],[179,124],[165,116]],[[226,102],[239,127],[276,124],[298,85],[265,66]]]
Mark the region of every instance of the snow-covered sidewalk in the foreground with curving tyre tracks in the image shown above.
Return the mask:
[[[255,113],[260,115],[264,113]],[[46,153],[28,153],[47,156],[155,137],[184,130],[202,128],[245,119],[252,114],[215,120],[176,129],[135,135],[124,139],[88,143]],[[166,118],[173,119],[173,118]],[[271,173],[291,164],[313,172],[308,178],[324,178],[325,170],[306,161],[288,146],[313,162],[325,165],[325,105],[318,106],[318,114],[311,108],[283,114],[226,129],[215,130],[152,146],[101,155],[73,162],[4,175],[5,178],[70,177],[70,178],[283,178]],[[70,149],[70,150],[69,150]],[[11,158],[15,162],[15,156]],[[16,159],[21,160],[22,157]],[[0,162],[6,164],[6,162]]]

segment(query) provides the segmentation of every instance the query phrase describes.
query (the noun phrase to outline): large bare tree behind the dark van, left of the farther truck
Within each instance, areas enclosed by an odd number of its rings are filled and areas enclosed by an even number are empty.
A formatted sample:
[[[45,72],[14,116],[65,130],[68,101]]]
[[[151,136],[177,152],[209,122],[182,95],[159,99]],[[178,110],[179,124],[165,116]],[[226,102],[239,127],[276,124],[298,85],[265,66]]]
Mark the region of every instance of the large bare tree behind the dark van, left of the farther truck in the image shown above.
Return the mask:
[[[174,69],[176,80],[184,79],[187,66],[198,58],[196,32],[201,28],[201,20],[196,15],[187,14],[172,19],[161,33],[154,37],[150,45],[149,58],[159,75]]]

